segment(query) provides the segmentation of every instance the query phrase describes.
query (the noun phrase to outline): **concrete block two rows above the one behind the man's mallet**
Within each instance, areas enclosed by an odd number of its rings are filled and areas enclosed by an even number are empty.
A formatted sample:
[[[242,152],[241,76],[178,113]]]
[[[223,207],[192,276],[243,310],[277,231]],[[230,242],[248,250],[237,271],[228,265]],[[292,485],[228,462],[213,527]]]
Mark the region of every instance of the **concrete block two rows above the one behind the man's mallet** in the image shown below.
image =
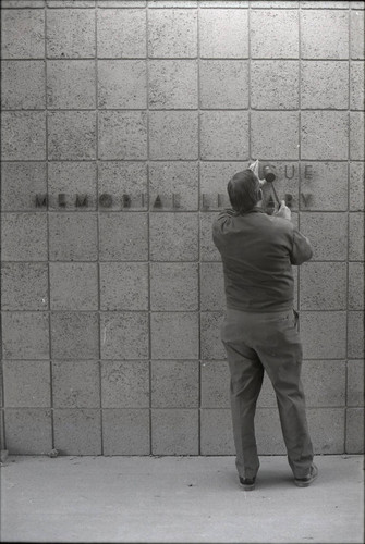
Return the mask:
[[[251,107],[258,110],[299,108],[297,61],[252,61]]]

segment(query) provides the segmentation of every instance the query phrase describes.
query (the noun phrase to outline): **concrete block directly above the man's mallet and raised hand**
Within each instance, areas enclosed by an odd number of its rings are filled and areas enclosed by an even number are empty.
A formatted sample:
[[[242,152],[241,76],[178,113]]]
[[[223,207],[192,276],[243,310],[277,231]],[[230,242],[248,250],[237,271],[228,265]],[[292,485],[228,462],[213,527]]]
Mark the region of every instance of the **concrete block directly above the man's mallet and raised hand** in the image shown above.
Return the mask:
[[[275,127],[275,138],[268,127]],[[299,159],[299,115],[292,111],[253,111],[251,154],[261,160]]]

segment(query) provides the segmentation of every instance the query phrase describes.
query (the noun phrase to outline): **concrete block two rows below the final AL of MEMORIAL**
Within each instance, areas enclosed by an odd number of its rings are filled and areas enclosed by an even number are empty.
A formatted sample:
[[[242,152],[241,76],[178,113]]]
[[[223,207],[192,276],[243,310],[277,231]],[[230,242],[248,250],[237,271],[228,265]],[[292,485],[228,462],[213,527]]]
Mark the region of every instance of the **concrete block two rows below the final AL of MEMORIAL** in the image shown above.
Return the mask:
[[[150,309],[153,311],[197,310],[198,264],[196,262],[151,262]]]

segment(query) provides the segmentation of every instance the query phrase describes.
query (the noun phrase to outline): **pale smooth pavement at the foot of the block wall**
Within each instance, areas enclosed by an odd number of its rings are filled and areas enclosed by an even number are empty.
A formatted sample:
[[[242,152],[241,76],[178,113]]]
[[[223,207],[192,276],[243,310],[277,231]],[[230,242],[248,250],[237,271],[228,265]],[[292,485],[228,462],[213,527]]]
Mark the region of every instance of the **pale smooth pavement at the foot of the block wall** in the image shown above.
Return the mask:
[[[1,542],[363,543],[363,457],[315,461],[300,489],[285,457],[260,457],[244,492],[230,456],[10,456]]]

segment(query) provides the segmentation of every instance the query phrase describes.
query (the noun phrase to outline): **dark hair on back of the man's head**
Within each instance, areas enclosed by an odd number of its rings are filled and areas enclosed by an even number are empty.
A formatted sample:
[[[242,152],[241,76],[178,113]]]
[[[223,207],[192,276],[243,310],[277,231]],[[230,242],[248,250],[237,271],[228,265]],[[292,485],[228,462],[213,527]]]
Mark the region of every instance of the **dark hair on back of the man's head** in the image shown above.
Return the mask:
[[[252,170],[238,172],[227,186],[230,202],[234,211],[245,213],[261,200],[259,181]]]

